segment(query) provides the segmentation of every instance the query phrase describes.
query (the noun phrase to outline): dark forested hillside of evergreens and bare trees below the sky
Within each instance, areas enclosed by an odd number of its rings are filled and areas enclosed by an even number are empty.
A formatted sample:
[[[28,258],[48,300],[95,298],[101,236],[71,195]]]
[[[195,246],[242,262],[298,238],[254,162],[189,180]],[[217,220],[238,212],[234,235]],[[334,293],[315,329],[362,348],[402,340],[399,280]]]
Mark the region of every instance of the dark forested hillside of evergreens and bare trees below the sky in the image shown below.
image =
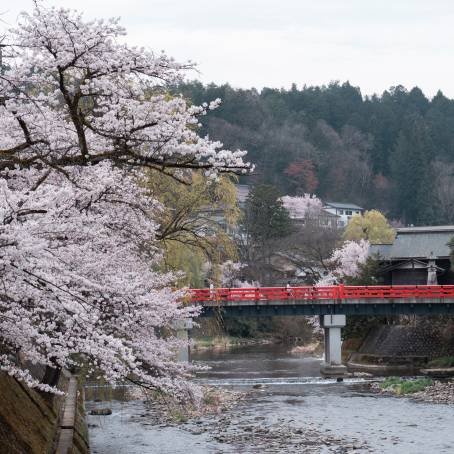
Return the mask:
[[[290,90],[178,87],[222,99],[202,134],[249,151],[249,183],[378,208],[403,224],[454,222],[454,100],[419,88],[364,97],[348,82]]]

